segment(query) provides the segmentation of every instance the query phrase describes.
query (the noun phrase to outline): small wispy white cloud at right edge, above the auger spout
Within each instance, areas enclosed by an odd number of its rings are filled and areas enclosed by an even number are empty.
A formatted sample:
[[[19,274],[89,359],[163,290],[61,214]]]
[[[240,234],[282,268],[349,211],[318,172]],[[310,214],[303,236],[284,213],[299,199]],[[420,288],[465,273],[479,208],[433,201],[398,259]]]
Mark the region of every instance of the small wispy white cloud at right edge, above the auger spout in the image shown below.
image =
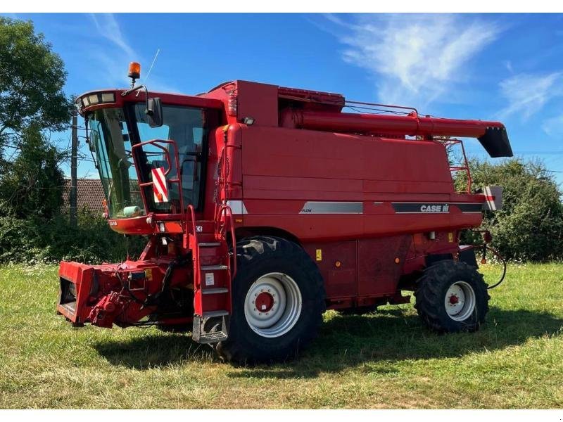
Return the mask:
[[[500,94],[507,100],[507,106],[499,117],[519,113],[524,120],[537,113],[548,101],[563,95],[561,82],[563,72],[549,75],[520,73],[500,82]]]

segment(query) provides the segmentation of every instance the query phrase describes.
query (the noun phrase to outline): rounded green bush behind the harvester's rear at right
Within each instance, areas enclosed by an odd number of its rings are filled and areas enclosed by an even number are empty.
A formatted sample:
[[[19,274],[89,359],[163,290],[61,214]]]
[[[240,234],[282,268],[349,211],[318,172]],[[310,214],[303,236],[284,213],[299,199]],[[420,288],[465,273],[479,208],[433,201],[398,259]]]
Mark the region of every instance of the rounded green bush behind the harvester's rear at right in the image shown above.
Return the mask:
[[[532,261],[563,257],[562,191],[542,162],[511,159],[493,165],[472,159],[469,167],[474,188],[504,188],[502,210],[486,212],[483,219],[502,255]],[[464,183],[460,174],[456,184]]]

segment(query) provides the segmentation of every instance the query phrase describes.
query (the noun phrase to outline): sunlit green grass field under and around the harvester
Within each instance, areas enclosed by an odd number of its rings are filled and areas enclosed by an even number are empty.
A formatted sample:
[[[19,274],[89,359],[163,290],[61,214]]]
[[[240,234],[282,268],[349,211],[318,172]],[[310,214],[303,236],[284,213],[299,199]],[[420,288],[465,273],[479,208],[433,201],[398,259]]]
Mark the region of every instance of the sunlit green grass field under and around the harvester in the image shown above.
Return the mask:
[[[56,267],[0,267],[0,408],[561,408],[562,281],[511,266],[478,333],[431,333],[411,305],[327,312],[298,362],[234,367],[186,335],[72,328]]]

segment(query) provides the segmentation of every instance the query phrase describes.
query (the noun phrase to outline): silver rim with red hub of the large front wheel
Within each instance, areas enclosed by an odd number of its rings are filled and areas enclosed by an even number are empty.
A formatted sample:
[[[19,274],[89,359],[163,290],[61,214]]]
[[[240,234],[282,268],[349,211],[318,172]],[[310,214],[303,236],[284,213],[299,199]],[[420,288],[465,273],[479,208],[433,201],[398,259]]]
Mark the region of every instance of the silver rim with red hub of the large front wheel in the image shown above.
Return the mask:
[[[290,276],[269,273],[252,283],[244,300],[244,316],[262,337],[279,337],[293,328],[301,315],[301,290]]]

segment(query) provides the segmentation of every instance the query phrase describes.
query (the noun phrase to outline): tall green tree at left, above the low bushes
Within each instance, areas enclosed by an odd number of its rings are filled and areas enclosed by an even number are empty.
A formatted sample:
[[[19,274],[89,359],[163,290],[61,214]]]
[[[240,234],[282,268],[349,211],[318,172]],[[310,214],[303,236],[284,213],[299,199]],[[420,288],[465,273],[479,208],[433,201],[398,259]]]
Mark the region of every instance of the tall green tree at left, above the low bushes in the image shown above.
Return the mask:
[[[63,60],[31,22],[0,17],[0,212],[49,218],[61,205],[62,155],[43,135],[70,124]]]

